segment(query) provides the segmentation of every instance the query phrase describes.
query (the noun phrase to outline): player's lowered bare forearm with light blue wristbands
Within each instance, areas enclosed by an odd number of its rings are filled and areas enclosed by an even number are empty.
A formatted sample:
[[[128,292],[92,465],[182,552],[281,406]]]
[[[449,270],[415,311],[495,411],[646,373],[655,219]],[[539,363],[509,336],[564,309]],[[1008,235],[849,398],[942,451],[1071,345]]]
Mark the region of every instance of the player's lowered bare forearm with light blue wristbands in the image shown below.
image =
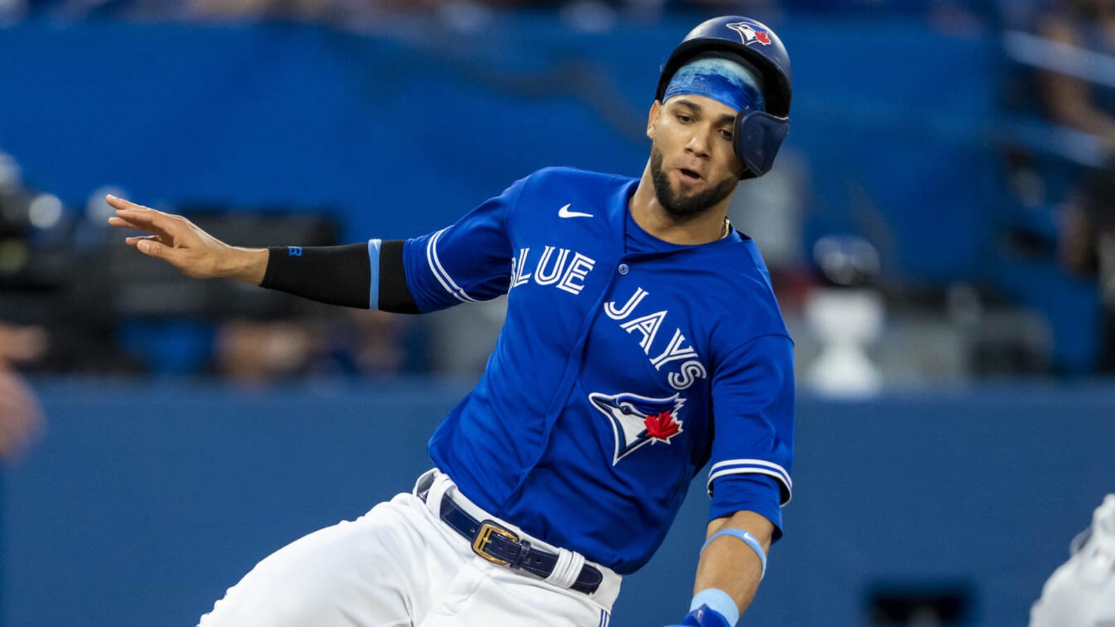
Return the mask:
[[[681,625],[733,627],[755,597],[773,536],[774,524],[755,512],[740,511],[709,522],[692,607]]]

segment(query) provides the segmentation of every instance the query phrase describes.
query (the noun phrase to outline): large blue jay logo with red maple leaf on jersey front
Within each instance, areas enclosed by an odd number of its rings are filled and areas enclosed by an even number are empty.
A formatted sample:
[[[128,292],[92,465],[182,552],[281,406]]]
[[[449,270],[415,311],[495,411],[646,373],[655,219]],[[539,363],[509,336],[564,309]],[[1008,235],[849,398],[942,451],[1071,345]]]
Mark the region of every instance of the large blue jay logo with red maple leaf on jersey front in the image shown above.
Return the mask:
[[[675,394],[669,398],[648,398],[638,394],[601,394],[593,392],[589,401],[608,416],[615,433],[615,455],[612,465],[648,442],[670,443],[681,433],[678,412],[686,399]]]

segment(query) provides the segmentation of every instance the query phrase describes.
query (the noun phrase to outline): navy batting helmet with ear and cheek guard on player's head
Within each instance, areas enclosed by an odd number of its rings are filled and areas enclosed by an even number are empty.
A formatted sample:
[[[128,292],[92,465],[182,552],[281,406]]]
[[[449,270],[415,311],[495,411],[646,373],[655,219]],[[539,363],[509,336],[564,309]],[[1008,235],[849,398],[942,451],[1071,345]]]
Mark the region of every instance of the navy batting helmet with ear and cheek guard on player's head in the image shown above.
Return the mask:
[[[766,110],[739,112],[733,132],[736,154],[747,166],[744,179],[770,171],[789,133],[791,68],[786,47],[773,30],[750,18],[724,16],[701,22],[673,49],[658,79],[656,100],[681,66],[702,55],[724,57],[755,70]]]

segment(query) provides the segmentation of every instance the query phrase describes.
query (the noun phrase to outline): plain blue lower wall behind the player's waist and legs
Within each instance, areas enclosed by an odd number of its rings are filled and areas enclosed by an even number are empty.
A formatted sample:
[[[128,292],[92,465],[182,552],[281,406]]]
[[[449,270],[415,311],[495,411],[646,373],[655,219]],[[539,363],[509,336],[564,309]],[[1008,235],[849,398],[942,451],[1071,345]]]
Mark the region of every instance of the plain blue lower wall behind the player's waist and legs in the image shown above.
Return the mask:
[[[270,551],[407,490],[466,389],[37,388],[48,436],[4,476],[4,627],[193,625]],[[879,586],[958,586],[972,601],[963,624],[1024,625],[1072,536],[1115,491],[1113,392],[803,397],[786,538],[748,625],[865,625]],[[706,508],[691,490],[666,546],[624,581],[613,625],[685,609]]]

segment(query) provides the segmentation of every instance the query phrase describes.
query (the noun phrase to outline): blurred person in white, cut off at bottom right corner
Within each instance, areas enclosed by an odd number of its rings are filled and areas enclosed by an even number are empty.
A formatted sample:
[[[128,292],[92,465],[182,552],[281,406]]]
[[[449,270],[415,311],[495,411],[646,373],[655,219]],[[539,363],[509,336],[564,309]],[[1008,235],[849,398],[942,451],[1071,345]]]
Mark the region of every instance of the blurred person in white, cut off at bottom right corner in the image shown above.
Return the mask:
[[[1096,508],[1069,552],[1030,608],[1030,627],[1115,627],[1115,494]]]

